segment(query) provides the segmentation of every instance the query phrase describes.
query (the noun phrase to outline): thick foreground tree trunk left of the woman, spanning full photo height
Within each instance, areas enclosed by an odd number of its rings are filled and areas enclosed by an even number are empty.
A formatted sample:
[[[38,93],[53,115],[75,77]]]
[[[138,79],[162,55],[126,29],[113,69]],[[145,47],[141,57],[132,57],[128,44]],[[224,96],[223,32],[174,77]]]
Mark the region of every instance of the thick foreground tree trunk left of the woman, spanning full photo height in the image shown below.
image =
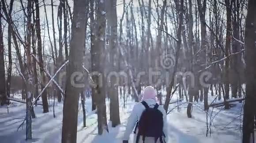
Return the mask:
[[[86,0],[74,0],[72,20],[72,40],[67,68],[66,91],[63,107],[62,143],[76,143],[79,93],[83,87],[74,84],[74,75],[83,75],[82,60],[85,43]],[[84,83],[80,78],[76,83]]]

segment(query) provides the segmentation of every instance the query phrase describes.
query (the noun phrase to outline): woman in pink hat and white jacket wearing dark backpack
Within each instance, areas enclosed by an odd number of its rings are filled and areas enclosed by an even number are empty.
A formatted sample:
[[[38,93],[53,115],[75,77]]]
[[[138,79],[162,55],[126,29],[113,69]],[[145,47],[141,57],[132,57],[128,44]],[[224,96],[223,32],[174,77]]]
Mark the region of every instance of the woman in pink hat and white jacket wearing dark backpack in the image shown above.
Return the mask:
[[[156,90],[152,86],[144,89],[142,101],[134,105],[123,143],[128,143],[133,130],[134,143],[167,143],[166,111],[157,103]]]

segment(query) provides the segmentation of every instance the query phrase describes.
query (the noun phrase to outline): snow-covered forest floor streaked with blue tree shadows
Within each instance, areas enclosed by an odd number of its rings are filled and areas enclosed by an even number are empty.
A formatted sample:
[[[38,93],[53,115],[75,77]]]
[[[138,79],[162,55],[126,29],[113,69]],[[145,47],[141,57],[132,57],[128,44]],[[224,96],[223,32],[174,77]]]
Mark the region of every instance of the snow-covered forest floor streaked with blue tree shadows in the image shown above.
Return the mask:
[[[210,96],[210,95],[209,95]],[[15,95],[20,98],[20,95]],[[210,101],[215,97],[209,97]],[[174,95],[172,101],[177,100]],[[39,101],[40,102],[40,101]],[[182,101],[185,102],[185,101]],[[123,100],[120,99],[120,120],[121,125],[111,128],[109,122],[109,133],[98,136],[97,114],[91,111],[91,99],[86,99],[87,127],[83,128],[83,110],[79,104],[77,143],[122,143],[122,136],[125,130],[127,118],[132,110],[134,101],[128,98],[126,108],[123,108]],[[203,103],[196,103],[203,108]],[[193,106],[192,118],[186,114],[187,104],[181,105],[180,111],[174,109],[167,116],[169,124],[168,143],[241,143],[241,107],[242,103],[235,102],[235,106],[229,110],[223,107],[210,108],[208,123],[211,118],[211,136],[207,132],[207,116],[200,107]],[[171,104],[169,110],[177,104]],[[109,100],[106,100],[107,116],[109,119]],[[0,143],[60,143],[62,129],[63,103],[56,103],[53,118],[53,101],[49,103],[49,113],[42,113],[42,106],[34,107],[36,118],[32,121],[33,139],[25,141],[24,124],[18,131],[19,125],[26,114],[26,104],[11,102],[8,106],[0,107]],[[212,112],[213,110],[213,112]],[[208,124],[209,125],[209,124]],[[130,143],[132,143],[132,137]]]

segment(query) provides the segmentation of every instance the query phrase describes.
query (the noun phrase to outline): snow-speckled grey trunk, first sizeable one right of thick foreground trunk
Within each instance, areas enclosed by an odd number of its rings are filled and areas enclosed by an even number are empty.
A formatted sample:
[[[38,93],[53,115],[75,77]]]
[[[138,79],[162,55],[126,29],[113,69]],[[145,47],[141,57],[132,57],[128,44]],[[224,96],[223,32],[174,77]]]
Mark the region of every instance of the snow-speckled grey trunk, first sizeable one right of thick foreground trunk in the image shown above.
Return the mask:
[[[92,57],[92,71],[103,73],[103,57],[102,53],[105,49],[105,28],[106,28],[106,18],[105,18],[105,1],[97,1],[97,30],[96,30],[96,45],[91,49],[93,51]],[[93,76],[94,83],[96,83],[96,101],[97,101],[97,114],[98,114],[98,134],[102,135],[103,130],[108,131],[107,119],[106,119],[106,105],[105,105],[105,95],[103,94],[103,86],[100,85],[100,79],[98,76]],[[102,78],[103,79],[103,78]]]

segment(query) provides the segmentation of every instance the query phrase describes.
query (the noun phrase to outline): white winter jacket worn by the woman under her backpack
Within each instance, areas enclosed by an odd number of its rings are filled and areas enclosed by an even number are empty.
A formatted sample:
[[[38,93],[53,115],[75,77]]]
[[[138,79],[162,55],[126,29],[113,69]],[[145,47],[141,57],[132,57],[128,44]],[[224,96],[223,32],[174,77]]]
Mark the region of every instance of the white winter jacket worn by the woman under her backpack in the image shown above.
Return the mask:
[[[154,107],[154,105],[156,104],[156,101],[154,99],[147,99],[145,100],[148,104],[149,107]],[[145,107],[143,104],[141,103],[137,103],[134,105],[133,109],[132,109],[132,113],[130,114],[130,117],[128,118],[128,122],[126,125],[126,131],[124,132],[124,140],[129,140],[130,138],[130,134],[133,132],[135,126],[136,126],[136,122],[139,121],[140,116],[142,114],[142,112],[145,110]],[[167,129],[167,119],[166,119],[166,111],[164,110],[163,106],[160,105],[158,107],[158,110],[162,112],[163,114],[163,132],[166,135],[166,138],[164,139],[166,141],[166,143],[168,143],[168,129]],[[138,133],[138,131],[136,131],[136,133]],[[136,137],[137,134],[134,135],[134,143],[136,142]],[[142,141],[142,137],[140,137],[139,139],[139,143],[143,143]],[[153,137],[146,137],[145,138],[145,143],[154,143],[154,138]],[[159,139],[158,142],[160,143]]]

